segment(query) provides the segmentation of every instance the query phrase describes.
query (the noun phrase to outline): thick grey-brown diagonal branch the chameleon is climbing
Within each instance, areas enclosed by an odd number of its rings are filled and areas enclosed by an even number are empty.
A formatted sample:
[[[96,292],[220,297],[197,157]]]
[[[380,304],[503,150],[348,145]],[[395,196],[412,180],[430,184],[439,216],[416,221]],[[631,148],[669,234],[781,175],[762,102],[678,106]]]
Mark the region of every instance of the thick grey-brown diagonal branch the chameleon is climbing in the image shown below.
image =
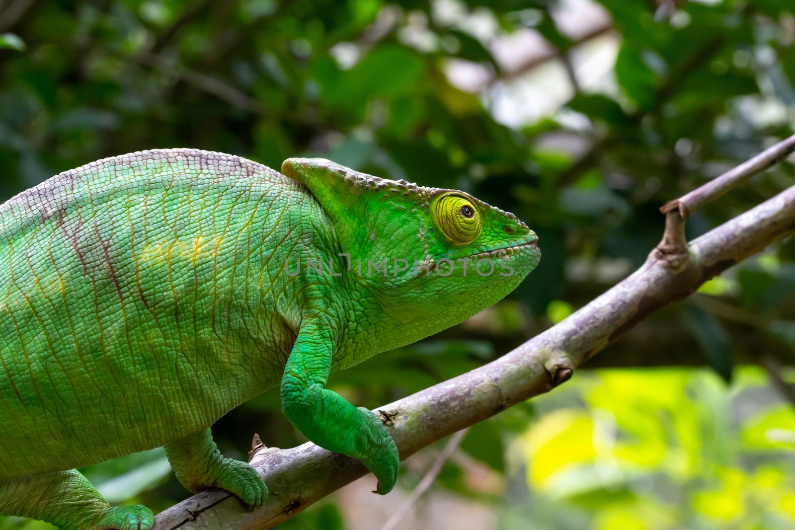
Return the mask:
[[[793,230],[795,187],[691,242],[681,272],[673,273],[653,251],[626,280],[502,358],[385,405],[378,412],[401,458],[548,392],[653,311],[692,294]],[[262,508],[249,511],[229,493],[207,491],[160,513],[153,530],[273,528],[366,474],[361,463],[313,443],[262,449],[252,464],[270,486]]]

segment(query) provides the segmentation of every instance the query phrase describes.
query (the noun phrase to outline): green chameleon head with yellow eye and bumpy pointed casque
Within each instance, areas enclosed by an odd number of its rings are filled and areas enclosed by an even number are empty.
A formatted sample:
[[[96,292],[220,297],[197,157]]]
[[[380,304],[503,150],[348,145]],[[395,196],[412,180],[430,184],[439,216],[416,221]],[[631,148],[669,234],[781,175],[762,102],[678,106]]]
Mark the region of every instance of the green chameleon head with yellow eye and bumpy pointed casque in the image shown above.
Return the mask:
[[[422,336],[501,300],[541,258],[524,222],[463,191],[382,179],[321,158],[290,158],[281,170],[331,218],[350,255],[347,274]],[[410,335],[406,343],[419,338]]]

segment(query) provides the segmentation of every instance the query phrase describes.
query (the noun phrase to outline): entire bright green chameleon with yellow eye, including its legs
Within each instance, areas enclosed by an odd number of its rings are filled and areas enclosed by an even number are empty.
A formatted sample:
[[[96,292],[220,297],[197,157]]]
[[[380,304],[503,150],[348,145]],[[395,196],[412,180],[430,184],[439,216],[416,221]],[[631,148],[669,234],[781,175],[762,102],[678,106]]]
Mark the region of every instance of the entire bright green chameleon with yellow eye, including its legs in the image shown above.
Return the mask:
[[[160,446],[188,489],[261,505],[262,478],[223,458],[210,426],[276,385],[308,439],[389,492],[394,441],[324,388],[329,373],[502,299],[536,267],[536,241],[462,191],[324,159],[280,173],[161,149],[22,192],[0,205],[0,513],[146,530],[148,508],[111,507],[73,468]]]

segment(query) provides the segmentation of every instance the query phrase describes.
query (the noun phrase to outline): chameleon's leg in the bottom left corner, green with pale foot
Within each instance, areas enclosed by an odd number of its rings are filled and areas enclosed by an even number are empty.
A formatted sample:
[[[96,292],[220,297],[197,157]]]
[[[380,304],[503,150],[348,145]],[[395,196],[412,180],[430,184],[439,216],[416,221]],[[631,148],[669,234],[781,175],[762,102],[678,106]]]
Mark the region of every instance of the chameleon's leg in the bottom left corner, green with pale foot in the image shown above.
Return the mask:
[[[61,530],[149,530],[154,521],[142,505],[111,507],[77,470],[0,481],[0,513]]]

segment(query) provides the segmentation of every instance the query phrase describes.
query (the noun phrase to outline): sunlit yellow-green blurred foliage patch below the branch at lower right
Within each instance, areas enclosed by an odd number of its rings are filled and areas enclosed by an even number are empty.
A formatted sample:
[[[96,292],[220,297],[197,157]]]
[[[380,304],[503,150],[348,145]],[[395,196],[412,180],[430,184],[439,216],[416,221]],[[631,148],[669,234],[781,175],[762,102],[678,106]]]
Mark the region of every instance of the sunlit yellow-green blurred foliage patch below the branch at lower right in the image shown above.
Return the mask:
[[[789,528],[795,512],[781,507],[793,482],[781,440],[795,439],[795,412],[773,403],[738,414],[766,379],[760,369],[737,372],[731,387],[691,369],[603,369],[568,383],[573,395],[521,440],[529,500],[549,505],[533,510],[541,528],[578,509],[593,528],[754,528],[760,517],[765,528]],[[537,404],[555,401],[552,393]],[[726,451],[739,448],[740,432],[743,450]]]

